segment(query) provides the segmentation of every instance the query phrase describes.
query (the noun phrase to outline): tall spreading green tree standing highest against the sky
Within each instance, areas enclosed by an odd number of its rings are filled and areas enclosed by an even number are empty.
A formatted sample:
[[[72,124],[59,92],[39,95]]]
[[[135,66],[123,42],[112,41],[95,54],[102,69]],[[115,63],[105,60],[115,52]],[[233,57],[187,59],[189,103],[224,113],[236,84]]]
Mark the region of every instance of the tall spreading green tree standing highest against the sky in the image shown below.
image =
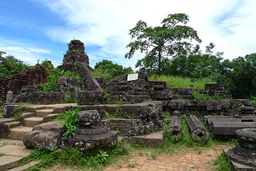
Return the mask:
[[[144,70],[162,71],[162,62],[168,57],[187,54],[192,49],[192,41],[201,42],[197,31],[187,26],[189,17],[186,14],[169,14],[159,27],[148,27],[144,21],[138,21],[136,27],[130,29],[129,34],[133,42],[127,45],[129,52],[125,58],[133,57],[140,50],[145,57],[136,66]]]

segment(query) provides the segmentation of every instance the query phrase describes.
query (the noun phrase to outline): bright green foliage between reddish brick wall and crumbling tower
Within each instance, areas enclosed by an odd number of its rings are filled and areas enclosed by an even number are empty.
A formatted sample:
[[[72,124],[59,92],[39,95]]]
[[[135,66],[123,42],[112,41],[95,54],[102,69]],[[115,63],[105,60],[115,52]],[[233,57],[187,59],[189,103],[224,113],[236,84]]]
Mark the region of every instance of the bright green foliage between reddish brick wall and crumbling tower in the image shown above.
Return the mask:
[[[59,77],[71,77],[78,78],[77,75],[71,71],[64,71],[54,68],[51,70],[51,75],[47,77],[47,83],[39,84],[36,88],[38,92],[55,92],[57,86],[57,80]]]

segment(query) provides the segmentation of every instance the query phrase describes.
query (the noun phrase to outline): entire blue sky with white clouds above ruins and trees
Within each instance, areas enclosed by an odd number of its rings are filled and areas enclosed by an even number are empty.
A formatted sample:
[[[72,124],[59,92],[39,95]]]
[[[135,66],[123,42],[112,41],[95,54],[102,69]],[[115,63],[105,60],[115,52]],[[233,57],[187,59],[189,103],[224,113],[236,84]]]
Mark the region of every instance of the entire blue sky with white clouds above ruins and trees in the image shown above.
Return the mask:
[[[1,0],[0,7],[0,51],[30,65],[60,65],[67,43],[79,39],[91,66],[106,59],[134,68],[143,54],[125,59],[129,29],[139,20],[157,26],[179,12],[190,16],[203,51],[214,42],[230,60],[256,52],[254,0]]]

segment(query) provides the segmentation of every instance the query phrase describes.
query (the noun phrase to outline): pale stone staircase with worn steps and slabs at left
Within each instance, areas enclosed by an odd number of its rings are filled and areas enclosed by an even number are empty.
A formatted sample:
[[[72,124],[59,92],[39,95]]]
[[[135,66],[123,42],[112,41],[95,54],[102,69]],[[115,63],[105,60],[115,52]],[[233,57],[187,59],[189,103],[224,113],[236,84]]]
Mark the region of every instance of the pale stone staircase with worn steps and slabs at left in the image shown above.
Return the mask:
[[[27,165],[16,168],[23,161],[23,157],[30,155],[30,150],[23,144],[25,134],[32,131],[36,125],[49,122],[52,118],[60,115],[54,114],[61,113],[58,112],[60,111],[58,109],[71,105],[76,104],[35,105],[28,107],[28,112],[21,115],[17,120],[12,118],[0,119],[0,124],[4,124],[9,129],[9,134],[2,139],[0,138],[0,170],[20,171],[35,166],[39,161],[31,161]]]

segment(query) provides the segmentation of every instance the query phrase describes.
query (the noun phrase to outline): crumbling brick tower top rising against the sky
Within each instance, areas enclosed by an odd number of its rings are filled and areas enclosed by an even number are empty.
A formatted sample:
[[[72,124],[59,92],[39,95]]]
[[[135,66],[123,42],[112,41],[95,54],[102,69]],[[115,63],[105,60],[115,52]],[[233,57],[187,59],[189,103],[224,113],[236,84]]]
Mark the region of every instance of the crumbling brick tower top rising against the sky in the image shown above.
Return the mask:
[[[64,55],[63,64],[57,66],[57,68],[76,72],[77,65],[80,62],[83,62],[86,65],[89,64],[89,57],[84,52],[84,43],[80,40],[71,40],[71,42],[68,43],[68,51],[66,55]]]

